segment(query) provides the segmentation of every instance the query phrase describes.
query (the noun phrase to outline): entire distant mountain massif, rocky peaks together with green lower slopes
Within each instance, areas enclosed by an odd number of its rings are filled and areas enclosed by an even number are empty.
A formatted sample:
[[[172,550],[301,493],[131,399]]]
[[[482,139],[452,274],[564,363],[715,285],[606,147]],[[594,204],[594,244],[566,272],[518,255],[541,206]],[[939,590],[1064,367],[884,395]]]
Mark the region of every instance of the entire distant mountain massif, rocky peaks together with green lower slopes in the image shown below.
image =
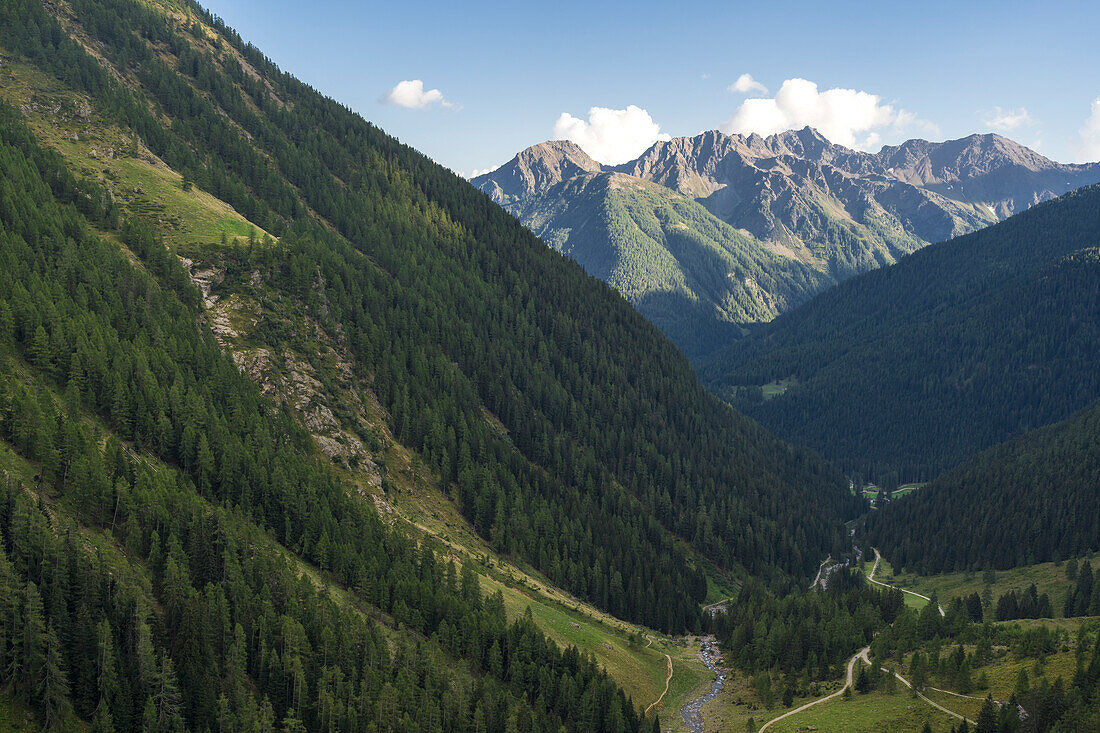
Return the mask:
[[[1057,164],[999,135],[911,140],[870,154],[806,128],[769,138],[678,138],[615,167],[572,143],[542,143],[472,183],[697,359],[825,286],[1098,180],[1100,164]],[[640,182],[668,193],[632,196],[650,190]],[[711,217],[693,217],[705,221],[697,239],[711,250],[736,239],[738,256],[763,273],[754,275],[758,286],[700,286],[726,276],[728,263],[681,260],[661,237],[639,250],[634,228],[609,220],[613,190],[629,200],[636,220],[700,204]],[[653,276],[676,270],[679,282]]]

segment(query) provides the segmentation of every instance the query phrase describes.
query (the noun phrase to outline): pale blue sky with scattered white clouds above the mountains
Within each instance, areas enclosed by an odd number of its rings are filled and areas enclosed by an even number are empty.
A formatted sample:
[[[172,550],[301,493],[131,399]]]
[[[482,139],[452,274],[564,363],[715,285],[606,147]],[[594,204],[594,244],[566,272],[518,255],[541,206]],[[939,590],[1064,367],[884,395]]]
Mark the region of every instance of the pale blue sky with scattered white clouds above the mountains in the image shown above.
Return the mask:
[[[1097,2],[206,4],[464,174],[553,136],[617,162],[658,135],[805,123],[870,150],[996,131],[1057,161],[1100,160]],[[730,90],[743,74],[760,86]]]

